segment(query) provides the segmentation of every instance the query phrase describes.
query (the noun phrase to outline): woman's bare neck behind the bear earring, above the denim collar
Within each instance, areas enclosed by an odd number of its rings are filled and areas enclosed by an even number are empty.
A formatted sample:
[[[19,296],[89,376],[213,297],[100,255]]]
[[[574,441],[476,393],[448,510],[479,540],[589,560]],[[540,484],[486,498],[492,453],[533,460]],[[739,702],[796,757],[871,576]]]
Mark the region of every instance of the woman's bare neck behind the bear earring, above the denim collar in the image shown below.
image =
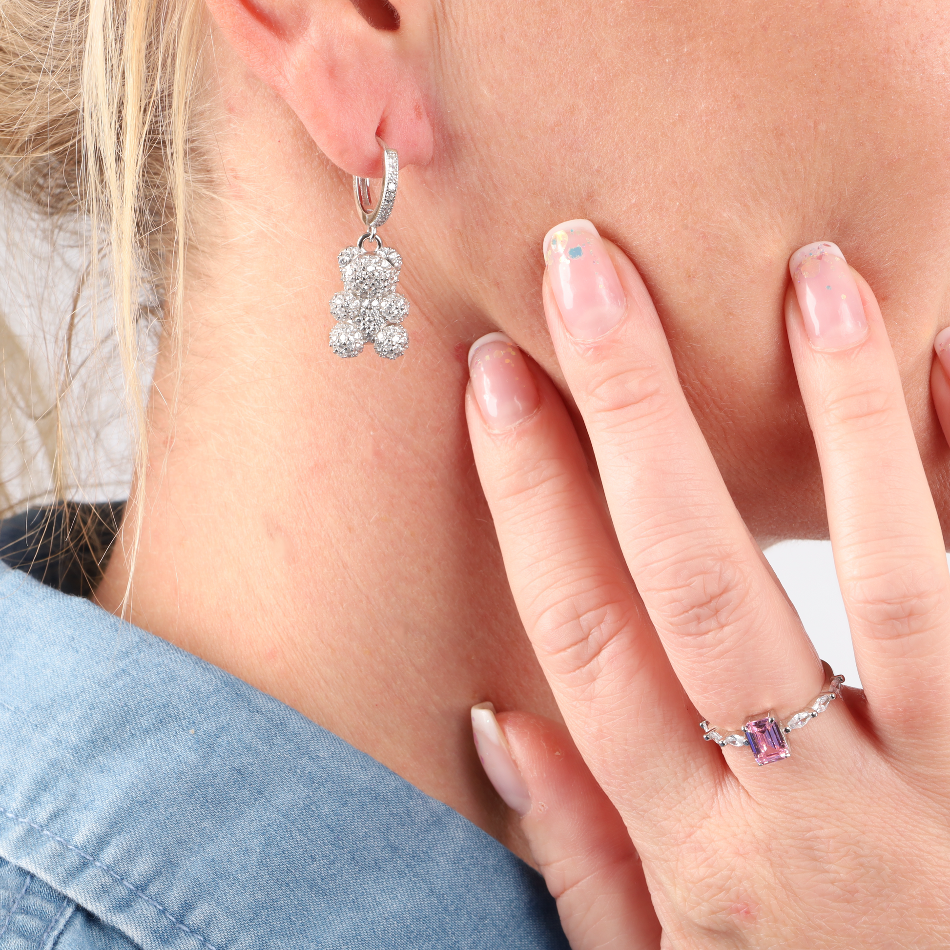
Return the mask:
[[[460,318],[401,186],[382,237],[405,259],[409,352],[334,356],[336,256],[359,236],[350,181],[262,112],[219,139],[230,193],[199,241],[180,363],[162,343],[142,511],[126,514],[98,600],[120,609],[141,514],[134,622],[523,851],[468,727],[484,699],[557,714],[468,446],[466,349],[492,328]],[[257,161],[256,141],[287,144]]]

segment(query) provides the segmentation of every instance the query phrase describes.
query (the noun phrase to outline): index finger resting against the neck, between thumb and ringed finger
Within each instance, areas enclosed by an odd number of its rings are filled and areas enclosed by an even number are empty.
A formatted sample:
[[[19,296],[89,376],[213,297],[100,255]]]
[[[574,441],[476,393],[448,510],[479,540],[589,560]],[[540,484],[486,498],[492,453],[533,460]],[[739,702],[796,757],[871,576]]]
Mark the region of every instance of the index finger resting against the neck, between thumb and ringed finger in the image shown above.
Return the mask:
[[[466,413],[508,582],[568,728],[608,793],[722,774],[656,639],[561,397],[503,334],[471,352]],[[697,750],[698,747],[698,750]],[[617,800],[617,799],[615,799]]]

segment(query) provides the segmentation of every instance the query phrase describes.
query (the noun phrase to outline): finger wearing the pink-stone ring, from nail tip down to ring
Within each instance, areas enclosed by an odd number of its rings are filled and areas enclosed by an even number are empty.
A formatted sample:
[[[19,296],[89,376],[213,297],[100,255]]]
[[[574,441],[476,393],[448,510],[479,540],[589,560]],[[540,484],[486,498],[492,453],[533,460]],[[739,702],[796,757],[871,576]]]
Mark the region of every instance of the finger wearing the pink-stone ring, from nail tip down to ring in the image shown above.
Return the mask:
[[[555,350],[676,674],[733,729],[801,707],[822,688],[821,664],[732,504],[637,270],[589,221],[555,229],[545,254]]]

